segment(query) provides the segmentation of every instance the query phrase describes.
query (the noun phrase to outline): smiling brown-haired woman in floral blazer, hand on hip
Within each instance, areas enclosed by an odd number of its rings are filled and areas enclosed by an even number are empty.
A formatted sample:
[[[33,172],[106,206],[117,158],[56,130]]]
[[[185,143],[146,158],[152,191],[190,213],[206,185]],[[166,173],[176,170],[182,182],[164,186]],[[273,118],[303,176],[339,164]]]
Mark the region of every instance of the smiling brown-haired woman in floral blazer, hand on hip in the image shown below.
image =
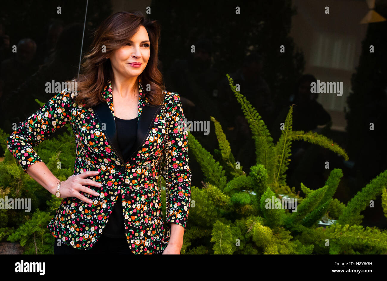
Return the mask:
[[[55,253],[180,253],[190,206],[187,129],[180,96],[163,90],[159,32],[140,12],[108,17],[83,74],[67,81],[75,93],[61,91],[7,138],[24,172],[63,198],[48,224]],[[67,123],[77,153],[74,175],[60,181],[33,147]],[[166,229],[161,168],[168,175]]]

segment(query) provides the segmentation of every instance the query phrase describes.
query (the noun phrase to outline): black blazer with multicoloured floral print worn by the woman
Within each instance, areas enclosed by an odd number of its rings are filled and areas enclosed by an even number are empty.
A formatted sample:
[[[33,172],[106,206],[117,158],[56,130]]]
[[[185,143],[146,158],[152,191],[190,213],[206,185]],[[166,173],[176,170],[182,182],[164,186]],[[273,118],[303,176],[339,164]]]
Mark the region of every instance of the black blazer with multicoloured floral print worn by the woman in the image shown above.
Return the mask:
[[[74,80],[73,80],[74,81]],[[163,226],[160,188],[163,148],[168,151],[169,213],[167,228],[187,224],[190,207],[191,171],[188,167],[187,129],[180,96],[163,91],[164,104],[151,105],[139,80],[137,140],[126,162],[118,147],[114,120],[111,81],[101,95],[106,99],[93,108],[77,105],[74,93],[63,90],[37,112],[20,122],[7,138],[7,148],[26,172],[27,167],[42,161],[33,147],[55,130],[69,123],[76,142],[74,175],[100,171],[88,177],[101,188],[86,185],[99,197],[80,192],[94,202],[76,197],[63,198],[48,229],[65,245],[90,249],[101,237],[115,204],[122,205],[125,236],[135,254],[161,253],[169,241]],[[180,122],[179,122],[180,121]],[[166,138],[168,130],[168,142]]]

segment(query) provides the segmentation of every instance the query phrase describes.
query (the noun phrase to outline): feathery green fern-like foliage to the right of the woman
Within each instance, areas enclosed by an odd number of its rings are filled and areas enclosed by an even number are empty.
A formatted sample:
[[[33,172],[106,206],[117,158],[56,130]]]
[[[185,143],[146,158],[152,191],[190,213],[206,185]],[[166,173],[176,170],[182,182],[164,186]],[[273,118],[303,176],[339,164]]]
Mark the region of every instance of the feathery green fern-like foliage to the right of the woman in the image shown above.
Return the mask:
[[[216,207],[207,214],[212,217],[212,228],[210,229],[212,238],[208,238],[212,242],[212,249],[208,246],[208,240],[203,241],[203,237],[199,240],[190,241],[194,247],[189,249],[188,253],[203,253],[205,251],[202,247],[207,249],[205,253],[215,254],[387,253],[385,231],[376,228],[364,229],[360,225],[349,226],[348,224],[337,223],[325,228],[316,228],[318,221],[325,215],[329,215],[332,219],[340,217],[342,221],[344,221],[344,218],[356,221],[354,219],[359,218],[360,211],[365,208],[365,204],[361,202],[369,203],[370,198],[375,198],[380,194],[385,179],[380,177],[379,181],[372,181],[370,185],[363,188],[358,197],[355,196],[351,200],[356,204],[350,202],[348,207],[333,198],[343,176],[341,169],[332,169],[325,185],[317,190],[307,188],[301,183],[301,190],[305,193],[305,198],[296,195],[295,188],[289,188],[286,185],[285,176],[289,157],[291,156],[292,141],[308,141],[320,147],[328,148],[332,152],[341,155],[345,160],[348,160],[348,155],[341,147],[325,136],[315,132],[292,131],[292,107],[290,107],[288,116],[284,121],[281,137],[274,146],[259,114],[251,107],[247,99],[236,91],[236,87],[232,84],[230,78],[229,81],[230,87],[241,104],[252,129],[256,145],[257,164],[250,168],[248,176],[234,173],[233,178],[228,179],[224,188],[217,184],[219,192],[229,196],[229,204],[224,208]],[[225,140],[220,124],[214,118],[212,118],[212,121],[216,123],[219,140],[220,150],[217,155],[224,160],[228,155],[232,155],[229,150],[229,143]],[[195,147],[199,146],[193,142],[192,150],[196,149]],[[211,154],[201,147],[200,153],[211,159]],[[199,155],[199,151],[195,153],[195,157],[196,155]],[[200,157],[197,160],[200,163],[204,162],[200,160]],[[207,159],[207,163],[210,161]],[[212,163],[215,162],[212,161]],[[211,169],[211,167],[206,169]],[[218,168],[217,174],[221,174],[222,169],[223,167]],[[205,194],[203,190],[205,189],[198,188],[198,191],[202,191],[198,200],[203,200]],[[279,192],[281,192],[281,195]],[[365,193],[367,196],[362,196]],[[282,195],[286,195],[286,198],[298,200],[296,212],[282,207],[266,208],[266,203],[271,203],[273,197],[277,201],[277,198],[281,198]],[[195,195],[193,195],[194,197]],[[270,199],[270,201],[266,202],[267,199]],[[384,202],[387,201],[384,200]],[[211,204],[211,200],[207,200],[207,202],[207,204]],[[353,204],[357,207],[354,208]],[[387,204],[385,203],[385,205]],[[208,205],[206,205],[206,208],[209,208]],[[192,209],[190,224],[187,225],[188,229],[195,228],[200,224],[200,220],[205,219],[204,221],[207,222],[202,209],[203,207]],[[356,223],[360,224],[361,221],[356,221]],[[209,224],[211,222],[207,224],[208,227]],[[239,231],[237,231],[238,229]],[[208,229],[206,233],[208,233]],[[235,241],[240,241],[240,245],[235,244]],[[327,245],[327,241],[330,244]]]

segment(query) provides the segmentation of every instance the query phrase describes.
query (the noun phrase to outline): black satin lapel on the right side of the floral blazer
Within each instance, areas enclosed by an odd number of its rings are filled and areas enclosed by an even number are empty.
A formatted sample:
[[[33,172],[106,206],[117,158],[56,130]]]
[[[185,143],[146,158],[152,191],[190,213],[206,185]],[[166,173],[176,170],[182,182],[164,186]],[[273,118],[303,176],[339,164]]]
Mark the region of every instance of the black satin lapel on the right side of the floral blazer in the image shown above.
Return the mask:
[[[134,154],[137,153],[142,147],[142,145],[145,143],[149,131],[151,129],[151,126],[154,122],[154,119],[156,118],[156,115],[160,111],[162,105],[149,105],[147,103],[144,103],[144,107],[142,108],[142,112],[139,117],[139,122],[137,124],[137,138],[136,142],[132,147],[132,150],[130,151],[130,157],[127,159],[127,162],[133,158]]]

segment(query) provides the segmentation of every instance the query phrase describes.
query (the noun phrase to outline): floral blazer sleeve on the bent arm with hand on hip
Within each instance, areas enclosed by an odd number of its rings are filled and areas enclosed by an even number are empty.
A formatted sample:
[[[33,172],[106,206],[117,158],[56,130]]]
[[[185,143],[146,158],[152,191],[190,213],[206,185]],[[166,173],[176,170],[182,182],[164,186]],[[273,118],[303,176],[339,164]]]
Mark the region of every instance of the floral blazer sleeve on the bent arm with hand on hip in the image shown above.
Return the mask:
[[[19,122],[6,139],[8,150],[25,173],[29,166],[42,161],[34,147],[70,120],[70,95],[67,89],[55,95],[25,121]]]

